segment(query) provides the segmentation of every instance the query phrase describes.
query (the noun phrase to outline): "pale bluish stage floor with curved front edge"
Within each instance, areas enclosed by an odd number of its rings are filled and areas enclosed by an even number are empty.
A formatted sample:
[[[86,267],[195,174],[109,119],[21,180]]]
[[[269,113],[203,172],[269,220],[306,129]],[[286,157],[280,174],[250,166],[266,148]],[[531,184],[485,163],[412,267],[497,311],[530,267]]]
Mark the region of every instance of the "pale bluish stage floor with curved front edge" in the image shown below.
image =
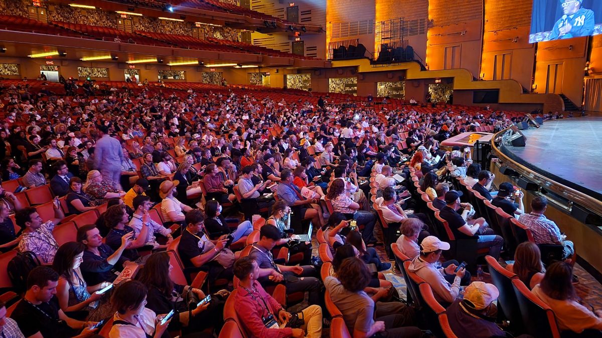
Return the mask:
[[[523,131],[526,147],[502,147],[517,162],[602,200],[602,117],[546,121]]]

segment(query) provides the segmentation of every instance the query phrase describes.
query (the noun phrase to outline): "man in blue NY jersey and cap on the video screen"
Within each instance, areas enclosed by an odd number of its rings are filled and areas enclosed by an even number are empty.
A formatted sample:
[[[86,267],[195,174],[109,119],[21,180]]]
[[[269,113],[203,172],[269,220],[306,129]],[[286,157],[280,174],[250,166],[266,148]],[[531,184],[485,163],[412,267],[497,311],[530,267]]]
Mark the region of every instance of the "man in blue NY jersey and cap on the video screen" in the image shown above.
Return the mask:
[[[564,15],[556,21],[548,40],[594,34],[594,11],[582,8],[583,0],[560,0]]]

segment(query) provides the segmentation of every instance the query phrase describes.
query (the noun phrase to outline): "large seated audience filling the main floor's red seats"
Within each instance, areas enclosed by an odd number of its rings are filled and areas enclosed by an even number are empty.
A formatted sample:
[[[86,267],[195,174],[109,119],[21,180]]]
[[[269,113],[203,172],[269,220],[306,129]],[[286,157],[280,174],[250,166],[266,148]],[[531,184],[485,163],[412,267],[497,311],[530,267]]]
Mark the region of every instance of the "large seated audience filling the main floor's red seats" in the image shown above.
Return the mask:
[[[92,84],[56,96],[30,84],[0,82],[0,250],[31,263],[8,264],[22,299],[10,316],[0,303],[3,337],[229,337],[232,325],[250,337],[316,338],[329,325],[333,337],[442,334],[384,271],[424,280],[458,337],[525,333],[497,316],[488,266],[471,275],[450,254],[462,250],[515,260],[507,273],[551,307],[560,330],[600,334],[602,313],[575,293],[573,244],[545,218],[545,197],[526,214],[522,192],[492,186],[469,147],[439,147],[514,122],[501,112],[231,87]],[[461,185],[518,217],[536,244],[561,245],[562,257],[542,262],[532,242],[510,250]],[[47,200],[30,203],[34,191]],[[450,251],[421,201],[455,241],[476,245]],[[94,222],[59,235],[91,210]]]

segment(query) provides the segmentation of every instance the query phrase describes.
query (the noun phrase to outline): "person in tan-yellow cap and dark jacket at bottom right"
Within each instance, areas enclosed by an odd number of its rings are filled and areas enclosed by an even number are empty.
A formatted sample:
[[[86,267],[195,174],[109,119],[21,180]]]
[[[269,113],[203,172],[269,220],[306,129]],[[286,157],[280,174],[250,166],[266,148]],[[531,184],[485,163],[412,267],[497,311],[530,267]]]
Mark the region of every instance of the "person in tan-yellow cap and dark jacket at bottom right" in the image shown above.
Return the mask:
[[[474,281],[464,290],[464,300],[447,307],[447,319],[458,338],[506,337],[495,324],[497,307],[493,303],[500,295],[494,284]]]

